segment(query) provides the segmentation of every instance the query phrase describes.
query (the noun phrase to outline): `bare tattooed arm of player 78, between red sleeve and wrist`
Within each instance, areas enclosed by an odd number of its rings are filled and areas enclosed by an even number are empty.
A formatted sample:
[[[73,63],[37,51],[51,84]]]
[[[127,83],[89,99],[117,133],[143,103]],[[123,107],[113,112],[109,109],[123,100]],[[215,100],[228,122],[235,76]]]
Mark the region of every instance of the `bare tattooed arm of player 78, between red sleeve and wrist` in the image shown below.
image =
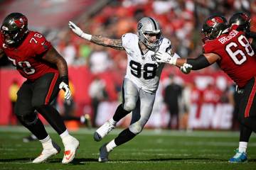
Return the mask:
[[[68,76],[68,65],[65,59],[55,50],[54,47],[50,48],[43,56],[43,60],[55,64],[58,68],[60,77]]]

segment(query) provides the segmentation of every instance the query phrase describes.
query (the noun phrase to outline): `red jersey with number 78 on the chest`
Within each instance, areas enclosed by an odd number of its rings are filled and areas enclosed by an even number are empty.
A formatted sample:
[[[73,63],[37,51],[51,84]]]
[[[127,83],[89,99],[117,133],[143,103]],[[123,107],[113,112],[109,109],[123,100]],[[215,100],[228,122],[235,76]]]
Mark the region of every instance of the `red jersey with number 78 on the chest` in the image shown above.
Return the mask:
[[[48,72],[58,72],[53,64],[41,59],[52,47],[41,33],[29,31],[25,40],[16,48],[8,47],[0,38],[0,47],[18,72],[31,81]]]

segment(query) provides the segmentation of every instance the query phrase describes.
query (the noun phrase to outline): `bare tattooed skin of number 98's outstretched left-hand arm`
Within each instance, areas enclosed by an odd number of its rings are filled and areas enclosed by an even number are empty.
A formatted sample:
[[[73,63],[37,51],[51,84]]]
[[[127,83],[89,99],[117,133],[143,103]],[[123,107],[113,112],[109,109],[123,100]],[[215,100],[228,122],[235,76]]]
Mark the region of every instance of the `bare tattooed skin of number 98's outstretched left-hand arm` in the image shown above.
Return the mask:
[[[100,35],[92,35],[92,39],[90,41],[97,45],[112,47],[116,50],[124,50],[121,39],[110,39],[110,38],[102,37]]]

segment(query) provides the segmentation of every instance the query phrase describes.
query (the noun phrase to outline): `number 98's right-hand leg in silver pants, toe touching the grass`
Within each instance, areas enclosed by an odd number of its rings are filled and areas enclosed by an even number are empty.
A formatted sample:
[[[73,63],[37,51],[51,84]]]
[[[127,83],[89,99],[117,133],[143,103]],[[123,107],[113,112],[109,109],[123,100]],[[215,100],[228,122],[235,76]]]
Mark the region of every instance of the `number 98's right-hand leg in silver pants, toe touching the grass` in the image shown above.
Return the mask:
[[[153,105],[155,94],[149,94],[144,91],[139,91],[139,100],[137,101],[136,108],[132,111],[132,121],[129,128],[123,130],[119,135],[111,142],[103,145],[100,148],[99,162],[107,162],[108,154],[119,145],[132,140],[136,135],[142,132],[144,125],[149,120]]]

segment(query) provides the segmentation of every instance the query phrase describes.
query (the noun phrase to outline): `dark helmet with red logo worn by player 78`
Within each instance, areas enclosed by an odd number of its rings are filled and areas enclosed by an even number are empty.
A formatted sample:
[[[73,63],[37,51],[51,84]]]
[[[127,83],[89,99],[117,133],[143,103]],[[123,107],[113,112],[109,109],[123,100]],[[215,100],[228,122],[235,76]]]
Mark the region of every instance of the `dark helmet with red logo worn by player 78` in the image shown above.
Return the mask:
[[[22,13],[10,13],[4,18],[1,36],[7,45],[17,45],[28,33],[28,19]]]

